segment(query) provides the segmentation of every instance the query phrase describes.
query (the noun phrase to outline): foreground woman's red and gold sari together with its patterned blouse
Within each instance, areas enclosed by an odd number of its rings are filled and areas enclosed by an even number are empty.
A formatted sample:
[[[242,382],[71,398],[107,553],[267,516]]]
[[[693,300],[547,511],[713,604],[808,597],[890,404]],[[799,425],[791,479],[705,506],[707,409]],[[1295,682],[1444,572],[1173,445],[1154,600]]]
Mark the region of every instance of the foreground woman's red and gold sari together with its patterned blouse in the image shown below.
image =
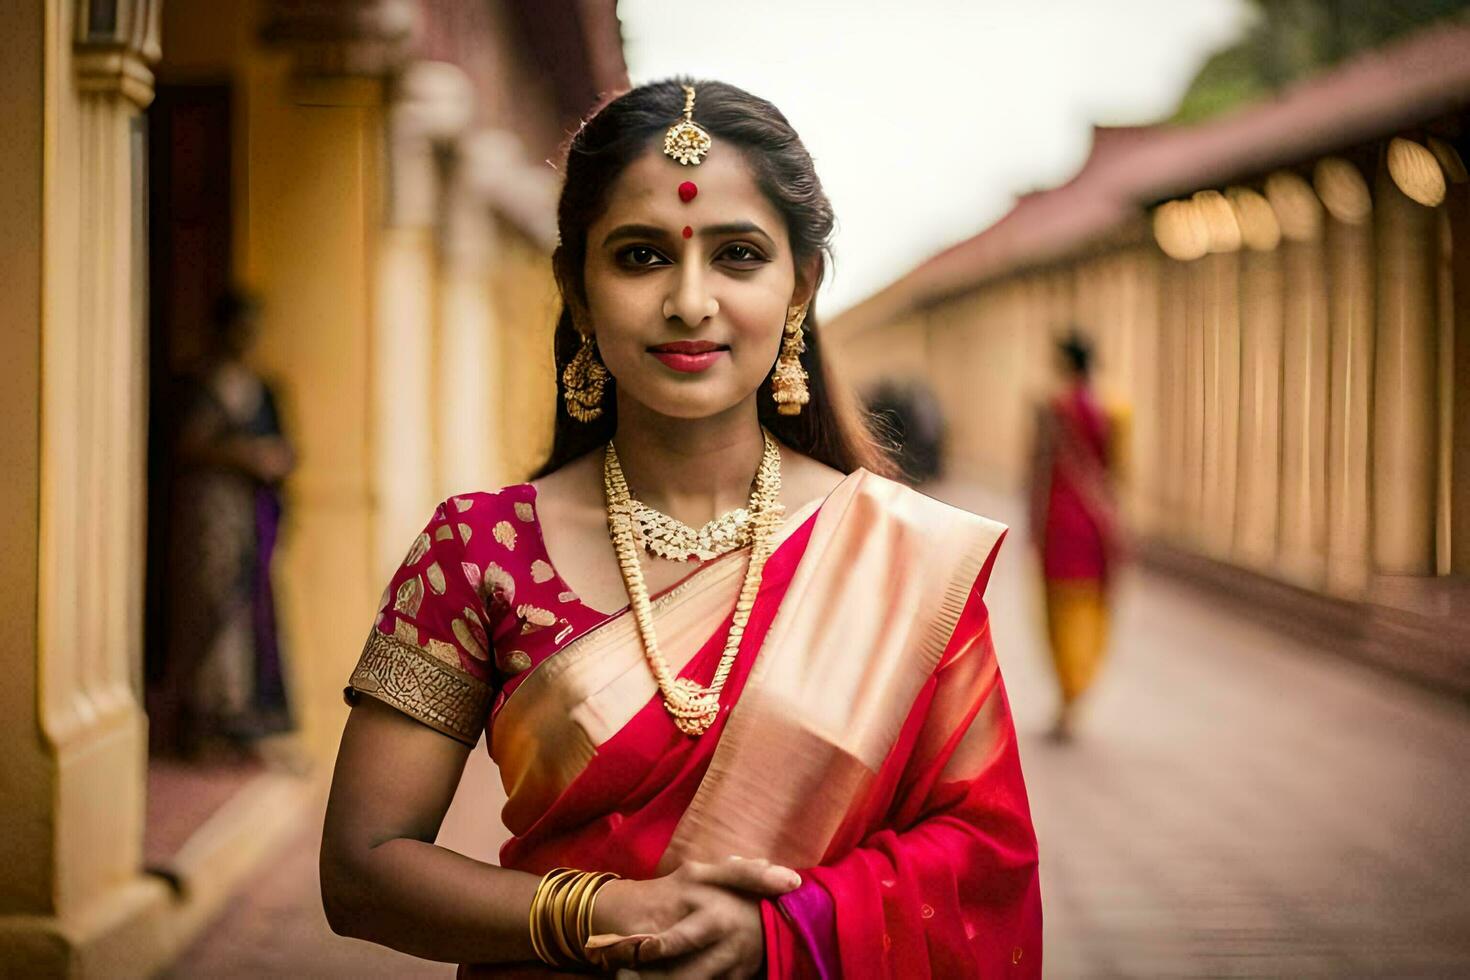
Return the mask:
[[[1039,976],[1036,840],[982,599],[1001,525],[864,470],[789,516],[723,711],[689,738],[626,608],[589,610],[551,569],[534,495],[440,508],[350,688],[467,743],[488,726],[504,867],[647,879],[763,857],[804,879],[761,907],[772,977]],[[744,564],[654,598],[681,676],[713,676]]]

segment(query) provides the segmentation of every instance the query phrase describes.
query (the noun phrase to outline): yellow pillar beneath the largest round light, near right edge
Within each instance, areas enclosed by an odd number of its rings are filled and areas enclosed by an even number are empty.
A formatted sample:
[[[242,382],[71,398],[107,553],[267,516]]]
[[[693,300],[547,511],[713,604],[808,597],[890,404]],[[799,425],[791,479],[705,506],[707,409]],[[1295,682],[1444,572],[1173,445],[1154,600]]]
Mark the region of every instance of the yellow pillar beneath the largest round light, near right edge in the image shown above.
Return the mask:
[[[1373,564],[1435,572],[1438,332],[1435,210],[1377,175],[1377,345],[1373,392]]]

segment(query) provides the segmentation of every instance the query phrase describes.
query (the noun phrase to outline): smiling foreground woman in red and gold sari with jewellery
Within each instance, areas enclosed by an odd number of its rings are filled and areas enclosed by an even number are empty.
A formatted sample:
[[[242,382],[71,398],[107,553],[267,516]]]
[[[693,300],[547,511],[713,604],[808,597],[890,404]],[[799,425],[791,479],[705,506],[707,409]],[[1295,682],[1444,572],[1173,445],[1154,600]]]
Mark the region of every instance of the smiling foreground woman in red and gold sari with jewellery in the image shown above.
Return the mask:
[[[388,586],[334,929],[497,976],[1039,976],[980,598],[1004,527],[879,476],[829,383],[797,134],[731,85],[635,88],[573,137],[559,222],[551,457],[447,500]],[[500,867],[432,843],[481,732]]]

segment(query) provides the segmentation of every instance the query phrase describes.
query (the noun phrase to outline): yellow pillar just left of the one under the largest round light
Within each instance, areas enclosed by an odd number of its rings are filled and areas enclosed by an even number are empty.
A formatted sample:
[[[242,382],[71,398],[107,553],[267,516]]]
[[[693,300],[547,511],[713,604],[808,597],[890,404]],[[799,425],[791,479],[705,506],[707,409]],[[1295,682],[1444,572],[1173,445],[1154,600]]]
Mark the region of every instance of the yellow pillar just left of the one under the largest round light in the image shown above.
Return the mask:
[[[1317,163],[1326,229],[1332,335],[1327,439],[1327,588],[1348,597],[1369,583],[1369,451],[1373,419],[1373,203],[1357,167]]]

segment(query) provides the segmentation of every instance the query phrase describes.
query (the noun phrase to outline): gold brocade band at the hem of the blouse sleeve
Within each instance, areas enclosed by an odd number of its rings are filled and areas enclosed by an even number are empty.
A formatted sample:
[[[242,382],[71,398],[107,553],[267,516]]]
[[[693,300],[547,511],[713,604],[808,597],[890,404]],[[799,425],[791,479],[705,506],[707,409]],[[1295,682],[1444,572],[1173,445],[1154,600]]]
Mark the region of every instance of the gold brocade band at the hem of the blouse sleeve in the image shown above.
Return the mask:
[[[435,732],[473,748],[490,716],[490,685],[376,629],[368,638],[343,699],[376,698]]]

